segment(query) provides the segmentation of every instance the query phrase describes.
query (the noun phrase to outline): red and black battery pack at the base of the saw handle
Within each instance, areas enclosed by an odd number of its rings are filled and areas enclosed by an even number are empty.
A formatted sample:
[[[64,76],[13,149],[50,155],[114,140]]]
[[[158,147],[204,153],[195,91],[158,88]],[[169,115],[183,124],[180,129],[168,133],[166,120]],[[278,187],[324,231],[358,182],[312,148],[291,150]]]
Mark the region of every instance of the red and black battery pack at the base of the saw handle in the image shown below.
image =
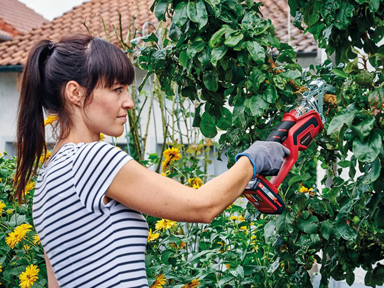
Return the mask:
[[[264,214],[281,214],[285,208],[276,187],[261,175],[250,180],[242,194]]]

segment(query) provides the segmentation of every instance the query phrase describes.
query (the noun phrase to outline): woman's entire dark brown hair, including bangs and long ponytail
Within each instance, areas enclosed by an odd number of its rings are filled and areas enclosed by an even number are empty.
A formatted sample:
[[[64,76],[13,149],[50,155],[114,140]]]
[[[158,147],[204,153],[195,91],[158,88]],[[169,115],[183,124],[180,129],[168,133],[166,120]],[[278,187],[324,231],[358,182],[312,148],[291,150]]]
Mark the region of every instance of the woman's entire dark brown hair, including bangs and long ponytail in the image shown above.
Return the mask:
[[[24,66],[17,110],[13,201],[17,199],[18,204],[21,204],[22,197],[26,202],[23,195],[25,185],[36,174],[43,150],[45,154],[47,152],[43,109],[58,117],[59,140],[70,132],[72,123],[65,110],[64,96],[65,86],[70,80],[86,88],[85,106],[92,101],[94,88],[111,88],[115,81],[121,85],[131,84],[134,68],[117,46],[88,34],[67,36],[55,44],[41,40],[33,45]]]

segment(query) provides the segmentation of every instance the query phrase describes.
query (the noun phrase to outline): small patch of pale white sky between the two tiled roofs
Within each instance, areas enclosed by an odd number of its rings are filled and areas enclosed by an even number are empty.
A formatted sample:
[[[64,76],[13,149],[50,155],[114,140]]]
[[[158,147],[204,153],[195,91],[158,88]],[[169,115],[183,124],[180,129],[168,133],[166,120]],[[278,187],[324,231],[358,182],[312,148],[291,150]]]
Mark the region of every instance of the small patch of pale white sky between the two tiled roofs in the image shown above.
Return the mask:
[[[52,1],[52,0],[19,0],[27,7],[35,10],[36,13],[43,15],[47,20],[63,15],[65,12],[72,10],[74,6],[80,5],[86,0],[65,0],[65,1]]]

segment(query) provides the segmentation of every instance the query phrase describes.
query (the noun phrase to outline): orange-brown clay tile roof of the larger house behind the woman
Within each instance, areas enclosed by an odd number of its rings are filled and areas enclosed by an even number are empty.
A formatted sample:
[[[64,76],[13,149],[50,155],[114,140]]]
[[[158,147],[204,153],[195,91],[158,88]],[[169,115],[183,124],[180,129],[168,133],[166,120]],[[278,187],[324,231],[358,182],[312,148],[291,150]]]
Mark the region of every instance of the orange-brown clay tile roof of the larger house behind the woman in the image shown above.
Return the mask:
[[[13,0],[0,0],[13,1]],[[286,0],[265,0],[264,7],[261,8],[264,18],[270,18],[275,25],[276,36],[282,42],[288,41],[287,30],[287,12],[288,5]],[[126,31],[129,23],[134,20],[134,26],[138,30],[142,30],[142,25],[150,21],[156,26],[157,19],[150,8],[152,1],[146,0],[92,0],[85,2],[82,5],[74,7],[70,12],[66,12],[63,16],[55,18],[51,22],[44,23],[40,28],[32,30],[30,33],[23,36],[15,36],[12,41],[0,43],[0,66],[1,65],[19,65],[24,64],[28,51],[34,41],[41,39],[51,39],[57,41],[65,33],[83,32],[87,33],[83,22],[86,21],[90,31],[97,33],[100,36],[105,36],[103,18],[109,35],[113,33],[112,24],[119,29],[119,14],[122,14],[123,36],[126,36]],[[291,18],[292,20],[292,18]],[[291,24],[291,39],[290,44],[297,46],[296,51],[312,52],[317,50],[316,42],[310,34],[303,35],[302,31],[293,27]],[[15,51],[15,48],[16,51]],[[20,51],[23,51],[22,53]],[[20,55],[21,53],[21,55]]]

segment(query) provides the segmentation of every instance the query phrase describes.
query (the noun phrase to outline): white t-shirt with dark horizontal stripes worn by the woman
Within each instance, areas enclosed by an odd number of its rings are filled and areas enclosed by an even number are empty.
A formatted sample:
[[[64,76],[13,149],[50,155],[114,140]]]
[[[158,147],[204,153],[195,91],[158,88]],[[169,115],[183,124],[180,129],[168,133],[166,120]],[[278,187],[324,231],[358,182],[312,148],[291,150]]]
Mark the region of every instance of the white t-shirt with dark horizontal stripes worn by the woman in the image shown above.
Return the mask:
[[[103,198],[133,159],[107,142],[66,143],[40,169],[33,223],[61,288],[148,287],[144,216]]]

